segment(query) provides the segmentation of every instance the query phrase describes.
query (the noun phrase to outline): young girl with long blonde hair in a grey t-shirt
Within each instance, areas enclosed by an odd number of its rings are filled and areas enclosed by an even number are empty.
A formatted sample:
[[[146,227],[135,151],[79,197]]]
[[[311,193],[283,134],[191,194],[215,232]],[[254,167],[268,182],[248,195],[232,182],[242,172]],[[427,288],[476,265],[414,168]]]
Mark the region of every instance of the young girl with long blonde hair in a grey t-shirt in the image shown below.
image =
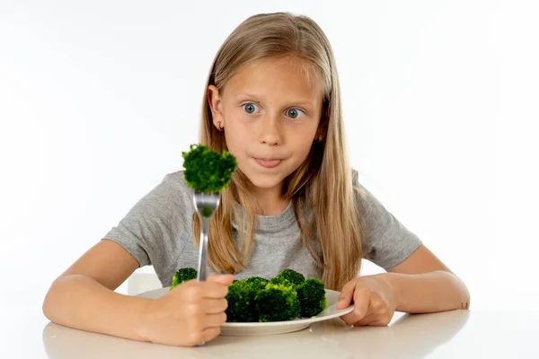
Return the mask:
[[[339,308],[355,306],[342,320],[355,326],[385,326],[394,311],[468,308],[463,282],[350,169],[335,60],[313,20],[247,19],[216,54],[206,89],[200,143],[238,163],[210,224],[215,273],[157,300],[114,292],[137,267],[153,265],[163,286],[178,268],[197,267],[199,220],[177,171],[54,281],[43,303],[49,320],[195,346],[219,335],[232,275],[270,278],[283,268],[340,291]],[[358,277],[362,258],[387,273]]]

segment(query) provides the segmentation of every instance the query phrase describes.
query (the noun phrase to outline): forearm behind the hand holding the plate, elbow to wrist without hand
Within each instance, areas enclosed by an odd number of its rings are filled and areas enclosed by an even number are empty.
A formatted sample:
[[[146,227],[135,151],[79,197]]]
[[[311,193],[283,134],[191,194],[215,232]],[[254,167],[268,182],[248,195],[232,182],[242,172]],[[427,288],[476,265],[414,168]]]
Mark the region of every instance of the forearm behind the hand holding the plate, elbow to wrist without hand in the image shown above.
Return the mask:
[[[419,275],[384,273],[379,276],[393,288],[396,311],[428,313],[467,310],[470,306],[466,285],[454,274],[443,270]]]

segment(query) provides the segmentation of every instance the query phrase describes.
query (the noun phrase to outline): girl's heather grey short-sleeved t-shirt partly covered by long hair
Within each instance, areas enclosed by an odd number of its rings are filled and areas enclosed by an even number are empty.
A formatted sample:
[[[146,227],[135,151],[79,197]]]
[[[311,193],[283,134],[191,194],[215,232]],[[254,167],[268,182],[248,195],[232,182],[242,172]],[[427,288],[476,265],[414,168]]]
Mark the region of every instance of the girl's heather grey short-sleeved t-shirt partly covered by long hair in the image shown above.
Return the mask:
[[[385,269],[394,267],[408,258],[421,241],[358,183],[357,171],[352,171],[352,176],[354,186],[366,195],[361,203],[367,226],[364,257]],[[167,174],[103,240],[119,243],[137,259],[140,267],[153,265],[162,285],[171,285],[177,269],[198,267],[199,250],[191,232],[195,211],[192,194],[183,179],[183,171]],[[280,214],[259,215],[257,221],[246,268],[234,274],[235,279],[271,278],[284,268],[294,269],[306,278],[322,279],[321,268],[301,241],[291,202]],[[234,225],[234,236],[237,236],[236,229]],[[209,267],[208,273],[212,272]]]

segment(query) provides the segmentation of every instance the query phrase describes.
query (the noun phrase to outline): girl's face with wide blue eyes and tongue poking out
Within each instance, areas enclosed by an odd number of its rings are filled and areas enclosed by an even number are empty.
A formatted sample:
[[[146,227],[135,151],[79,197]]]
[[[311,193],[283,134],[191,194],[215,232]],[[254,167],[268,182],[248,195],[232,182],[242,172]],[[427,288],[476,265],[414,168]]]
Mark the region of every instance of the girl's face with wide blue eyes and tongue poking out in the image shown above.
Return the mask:
[[[209,86],[214,125],[225,129],[238,168],[257,188],[280,188],[305,161],[322,112],[322,83],[296,57],[244,66],[219,93]]]

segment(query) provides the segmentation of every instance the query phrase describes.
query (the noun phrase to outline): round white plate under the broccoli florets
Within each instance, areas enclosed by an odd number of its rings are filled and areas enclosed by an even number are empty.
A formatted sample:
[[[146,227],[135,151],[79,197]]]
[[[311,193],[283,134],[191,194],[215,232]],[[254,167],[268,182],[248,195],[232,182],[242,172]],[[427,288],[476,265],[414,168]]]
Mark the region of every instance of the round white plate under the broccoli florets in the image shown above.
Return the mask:
[[[169,292],[169,288],[154,289],[145,293],[137,294],[137,297],[157,299]],[[268,323],[224,323],[221,326],[221,334],[224,336],[265,336],[271,334],[290,333],[309,327],[311,324],[338,318],[354,310],[354,306],[337,310],[339,292],[326,289],[326,301],[328,307],[314,318],[298,318],[287,321],[270,321]]]

